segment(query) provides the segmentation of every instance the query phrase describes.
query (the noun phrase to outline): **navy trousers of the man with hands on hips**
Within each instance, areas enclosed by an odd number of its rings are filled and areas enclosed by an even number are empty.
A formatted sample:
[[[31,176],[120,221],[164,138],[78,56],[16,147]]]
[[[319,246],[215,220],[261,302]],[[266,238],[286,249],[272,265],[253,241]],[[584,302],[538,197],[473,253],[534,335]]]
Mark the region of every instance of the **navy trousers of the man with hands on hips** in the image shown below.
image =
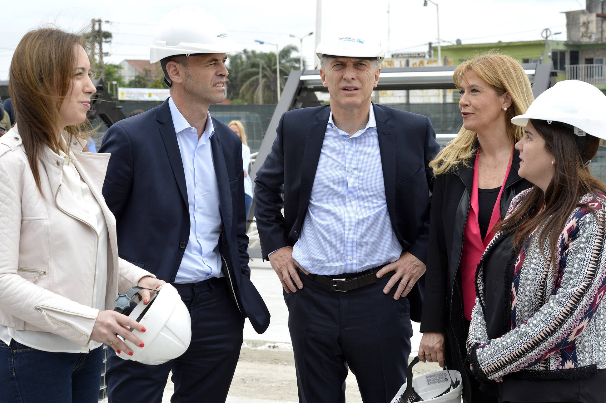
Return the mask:
[[[339,292],[300,277],[301,290],[284,292],[299,402],[344,403],[348,368],[364,403],[390,402],[406,381],[413,333],[408,300],[393,299],[396,287],[383,293],[389,278]]]

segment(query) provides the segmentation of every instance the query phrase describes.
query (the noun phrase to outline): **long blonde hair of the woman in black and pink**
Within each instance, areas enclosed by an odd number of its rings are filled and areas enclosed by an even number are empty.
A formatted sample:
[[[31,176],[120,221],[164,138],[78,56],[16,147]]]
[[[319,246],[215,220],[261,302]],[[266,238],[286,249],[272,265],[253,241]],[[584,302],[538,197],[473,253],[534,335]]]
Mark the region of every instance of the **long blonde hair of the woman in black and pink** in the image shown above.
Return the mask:
[[[454,70],[453,81],[459,90],[466,72],[473,70],[486,81],[498,95],[508,93],[511,106],[505,112],[505,125],[511,138],[511,146],[524,135],[524,128],[511,123],[511,118],[522,115],[533,101],[532,88],[522,65],[511,56],[489,52],[462,62]],[[469,160],[474,156],[474,144],[478,134],[461,127],[459,134],[436,155],[429,163],[434,175],[440,175],[458,167],[459,164],[470,166]]]

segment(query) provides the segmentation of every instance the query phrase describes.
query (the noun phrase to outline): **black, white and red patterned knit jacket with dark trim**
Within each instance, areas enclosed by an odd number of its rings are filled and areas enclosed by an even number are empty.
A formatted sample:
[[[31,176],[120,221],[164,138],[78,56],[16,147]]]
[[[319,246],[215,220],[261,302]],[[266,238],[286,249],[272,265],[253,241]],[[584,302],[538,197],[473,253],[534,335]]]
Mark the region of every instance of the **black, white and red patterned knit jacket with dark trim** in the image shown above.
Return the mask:
[[[513,198],[507,216],[530,190]],[[594,210],[578,207],[571,213],[554,253],[548,239],[540,248],[539,237],[531,235],[515,263],[511,259],[511,330],[492,340],[482,271],[491,246],[506,235],[496,233],[484,251],[467,339],[476,378],[576,379],[606,368],[606,304],[600,304],[606,293],[606,198],[588,194],[579,204]]]

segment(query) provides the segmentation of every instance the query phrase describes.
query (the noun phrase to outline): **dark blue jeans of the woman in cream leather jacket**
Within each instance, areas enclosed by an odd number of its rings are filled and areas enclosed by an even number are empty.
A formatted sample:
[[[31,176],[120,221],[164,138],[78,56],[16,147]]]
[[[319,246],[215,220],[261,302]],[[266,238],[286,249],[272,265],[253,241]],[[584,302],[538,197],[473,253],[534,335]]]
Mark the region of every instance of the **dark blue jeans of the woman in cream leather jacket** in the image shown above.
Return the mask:
[[[102,350],[49,353],[0,341],[0,403],[96,403]]]

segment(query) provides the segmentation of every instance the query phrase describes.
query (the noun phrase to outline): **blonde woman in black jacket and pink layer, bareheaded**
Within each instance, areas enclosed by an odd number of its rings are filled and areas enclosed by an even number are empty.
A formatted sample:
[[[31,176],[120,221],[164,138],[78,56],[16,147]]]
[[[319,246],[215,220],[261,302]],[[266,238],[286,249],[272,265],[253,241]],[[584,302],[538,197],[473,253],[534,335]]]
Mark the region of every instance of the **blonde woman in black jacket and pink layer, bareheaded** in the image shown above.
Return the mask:
[[[453,79],[461,91],[463,127],[430,164],[436,179],[419,359],[458,370],[466,403],[488,403],[496,398],[480,390],[464,365],[476,295],[473,281],[493,228],[513,196],[530,186],[518,176],[519,153],[513,148],[524,131],[510,119],[524,113],[533,97],[524,69],[510,56],[487,54],[465,61]],[[501,250],[504,261],[508,247]]]

